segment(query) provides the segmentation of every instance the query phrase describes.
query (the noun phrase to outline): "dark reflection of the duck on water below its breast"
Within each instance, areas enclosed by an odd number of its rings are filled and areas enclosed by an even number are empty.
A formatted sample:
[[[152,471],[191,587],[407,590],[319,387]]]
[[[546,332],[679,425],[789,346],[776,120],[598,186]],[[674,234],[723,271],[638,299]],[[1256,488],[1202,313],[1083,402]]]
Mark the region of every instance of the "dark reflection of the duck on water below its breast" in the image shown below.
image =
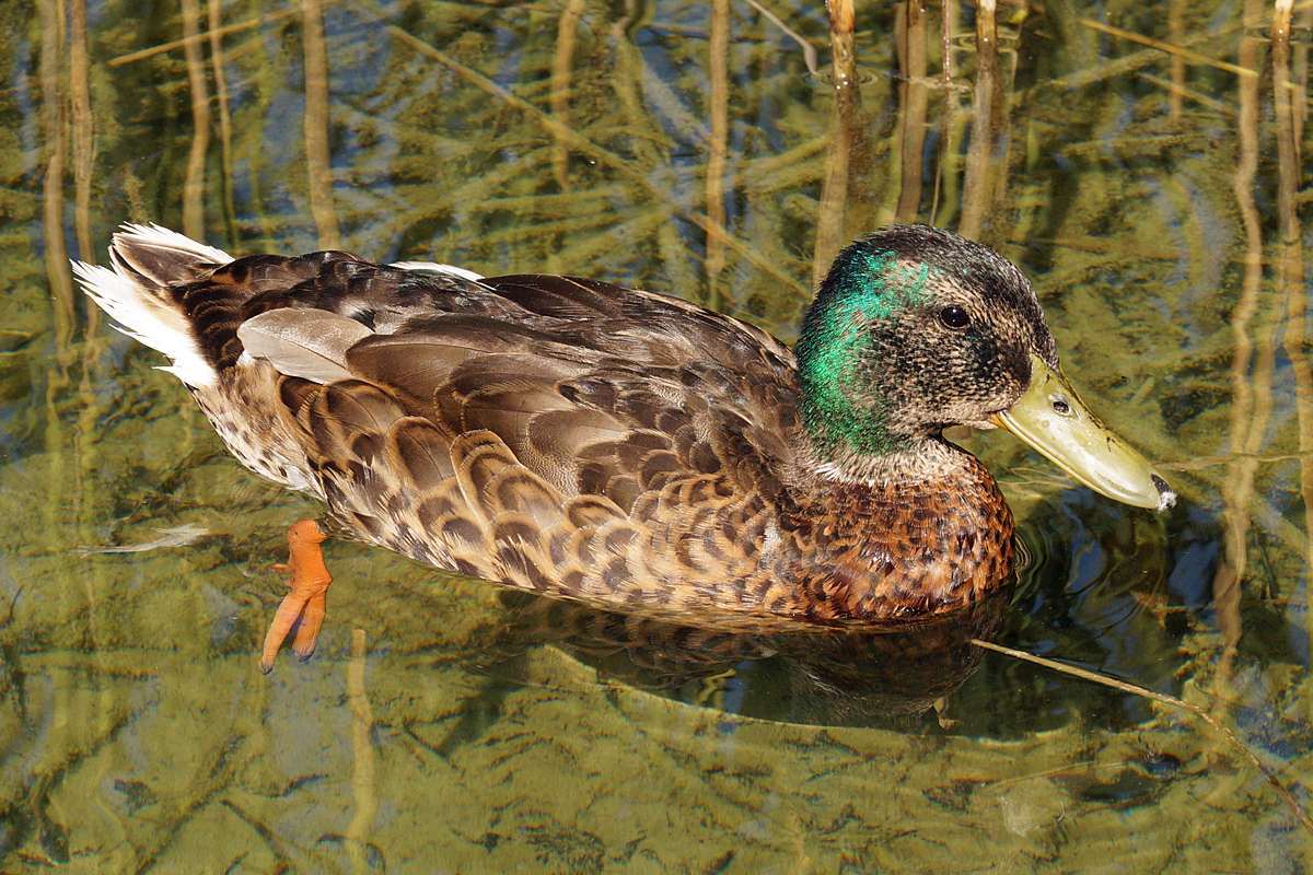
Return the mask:
[[[1008,588],[915,626],[851,632],[722,631],[507,592],[498,649],[517,661],[553,645],[635,689],[744,716],[822,725],[911,728],[979,665]],[[504,649],[503,649],[504,648]]]

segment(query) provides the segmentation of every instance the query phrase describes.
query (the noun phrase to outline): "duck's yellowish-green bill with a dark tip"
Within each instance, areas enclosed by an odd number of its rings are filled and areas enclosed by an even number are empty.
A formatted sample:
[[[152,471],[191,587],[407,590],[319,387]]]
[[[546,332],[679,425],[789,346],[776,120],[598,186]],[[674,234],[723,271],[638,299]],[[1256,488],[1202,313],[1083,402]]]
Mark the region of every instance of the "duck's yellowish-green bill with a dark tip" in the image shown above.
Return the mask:
[[[1154,510],[1176,502],[1176,493],[1153,466],[1109,432],[1062,373],[1039,356],[1031,356],[1031,387],[993,422],[1115,501]]]

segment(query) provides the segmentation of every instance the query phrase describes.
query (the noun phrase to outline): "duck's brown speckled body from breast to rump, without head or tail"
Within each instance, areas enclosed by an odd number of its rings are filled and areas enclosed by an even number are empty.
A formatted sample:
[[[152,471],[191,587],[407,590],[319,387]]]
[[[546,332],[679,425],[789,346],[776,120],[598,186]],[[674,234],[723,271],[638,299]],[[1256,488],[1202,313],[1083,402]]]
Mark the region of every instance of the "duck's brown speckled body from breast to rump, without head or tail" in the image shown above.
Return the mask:
[[[337,252],[239,258],[172,294],[219,375],[193,394],[242,463],[440,568],[722,626],[927,618],[1011,569],[974,458],[949,447],[885,487],[821,476],[790,350],[674,298]],[[289,307],[311,332],[368,329],[347,378],[243,356],[238,328]]]

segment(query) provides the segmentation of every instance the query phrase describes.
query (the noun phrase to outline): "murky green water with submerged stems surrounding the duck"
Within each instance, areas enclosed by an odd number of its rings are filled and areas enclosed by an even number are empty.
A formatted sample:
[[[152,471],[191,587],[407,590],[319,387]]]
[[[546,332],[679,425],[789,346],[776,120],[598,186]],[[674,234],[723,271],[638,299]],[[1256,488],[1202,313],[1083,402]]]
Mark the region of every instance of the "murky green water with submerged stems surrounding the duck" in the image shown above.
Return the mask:
[[[1262,3],[1008,4],[997,64],[949,4],[947,83],[939,5],[859,4],[840,98],[821,4],[316,5],[0,7],[0,870],[1313,865],[1310,4],[1291,52]],[[268,565],[315,508],[74,291],[66,254],[125,219],[596,275],[784,337],[840,241],[934,220],[1027,269],[1183,501],[973,438],[1035,554],[1010,603],[825,645],[336,542],[319,653],[267,678]],[[1272,781],[1196,715],[968,632],[1180,697]]]

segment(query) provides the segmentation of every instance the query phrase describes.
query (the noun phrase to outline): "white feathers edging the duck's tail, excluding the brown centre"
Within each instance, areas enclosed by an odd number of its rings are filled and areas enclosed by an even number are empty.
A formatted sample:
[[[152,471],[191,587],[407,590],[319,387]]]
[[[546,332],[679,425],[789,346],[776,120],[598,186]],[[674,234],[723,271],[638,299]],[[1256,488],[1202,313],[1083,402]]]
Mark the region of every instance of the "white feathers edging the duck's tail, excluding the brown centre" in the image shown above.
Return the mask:
[[[175,251],[214,264],[232,261],[226,252],[155,224],[125,224],[114,235],[114,243],[119,241]],[[143,286],[117,266],[110,270],[81,261],[74,261],[72,265],[83,291],[117,323],[118,331],[172,359],[172,365],[160,370],[173,374],[188,386],[214,384],[214,367],[205,361],[196,345],[186,316],[160,295],[161,290]]]

